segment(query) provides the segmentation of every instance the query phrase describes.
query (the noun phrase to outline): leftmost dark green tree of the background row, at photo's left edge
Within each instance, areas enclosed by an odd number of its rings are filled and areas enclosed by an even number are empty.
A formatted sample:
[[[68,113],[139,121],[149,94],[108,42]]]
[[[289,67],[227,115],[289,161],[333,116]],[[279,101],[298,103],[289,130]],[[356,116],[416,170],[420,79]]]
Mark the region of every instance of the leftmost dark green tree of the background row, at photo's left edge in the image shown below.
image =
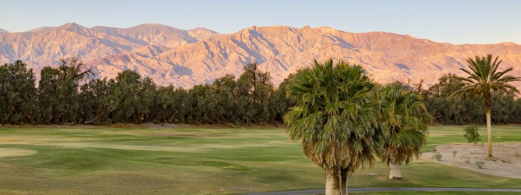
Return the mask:
[[[20,60],[0,66],[0,124],[33,123],[35,102],[32,69]]]

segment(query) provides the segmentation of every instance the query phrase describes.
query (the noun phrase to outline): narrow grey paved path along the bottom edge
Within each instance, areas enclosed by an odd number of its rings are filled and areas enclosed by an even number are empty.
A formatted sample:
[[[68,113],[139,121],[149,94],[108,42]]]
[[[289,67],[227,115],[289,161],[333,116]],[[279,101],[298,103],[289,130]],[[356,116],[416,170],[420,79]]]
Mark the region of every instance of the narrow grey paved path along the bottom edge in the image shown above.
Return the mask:
[[[521,192],[521,189],[509,188],[348,188],[348,192],[389,192],[389,191],[467,191],[467,192]],[[249,193],[245,195],[302,195],[324,193],[324,189],[274,191],[262,193]]]

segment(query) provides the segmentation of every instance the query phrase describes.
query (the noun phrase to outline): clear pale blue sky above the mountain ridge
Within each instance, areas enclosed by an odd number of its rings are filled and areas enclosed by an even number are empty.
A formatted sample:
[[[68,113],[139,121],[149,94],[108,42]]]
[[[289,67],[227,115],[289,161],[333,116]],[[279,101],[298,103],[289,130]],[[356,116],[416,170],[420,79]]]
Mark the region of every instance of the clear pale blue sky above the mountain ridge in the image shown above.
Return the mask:
[[[521,1],[29,1],[0,4],[0,28],[21,32],[76,22],[127,28],[161,23],[231,33],[250,26],[329,26],[448,43],[521,44]]]

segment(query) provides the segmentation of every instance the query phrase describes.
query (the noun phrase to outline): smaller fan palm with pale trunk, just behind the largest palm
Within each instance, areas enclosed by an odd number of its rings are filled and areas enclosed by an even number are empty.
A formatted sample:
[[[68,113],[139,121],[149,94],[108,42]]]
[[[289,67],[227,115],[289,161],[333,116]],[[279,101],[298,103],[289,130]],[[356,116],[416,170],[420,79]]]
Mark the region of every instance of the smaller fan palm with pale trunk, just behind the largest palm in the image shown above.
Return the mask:
[[[427,143],[429,114],[419,94],[402,83],[387,84],[380,89],[379,128],[382,130],[383,151],[378,153],[390,169],[389,179],[401,179],[400,165],[418,158]]]

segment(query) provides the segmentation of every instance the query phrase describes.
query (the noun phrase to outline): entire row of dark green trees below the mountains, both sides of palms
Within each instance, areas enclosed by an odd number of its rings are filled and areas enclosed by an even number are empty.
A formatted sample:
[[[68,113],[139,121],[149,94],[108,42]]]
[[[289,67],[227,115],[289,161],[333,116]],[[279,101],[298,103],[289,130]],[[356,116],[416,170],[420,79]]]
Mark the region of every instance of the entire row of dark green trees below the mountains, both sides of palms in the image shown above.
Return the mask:
[[[159,86],[151,78],[124,70],[113,79],[95,78],[77,58],[44,67],[38,85],[32,69],[17,60],[0,66],[0,124],[187,123],[281,124],[294,101],[286,96],[288,77],[274,87],[256,63],[236,78],[226,75],[191,89]],[[482,97],[449,97],[462,87],[446,74],[428,89],[404,84],[420,94],[434,123],[485,123]],[[492,121],[521,123],[521,100],[515,94],[492,93]]]

